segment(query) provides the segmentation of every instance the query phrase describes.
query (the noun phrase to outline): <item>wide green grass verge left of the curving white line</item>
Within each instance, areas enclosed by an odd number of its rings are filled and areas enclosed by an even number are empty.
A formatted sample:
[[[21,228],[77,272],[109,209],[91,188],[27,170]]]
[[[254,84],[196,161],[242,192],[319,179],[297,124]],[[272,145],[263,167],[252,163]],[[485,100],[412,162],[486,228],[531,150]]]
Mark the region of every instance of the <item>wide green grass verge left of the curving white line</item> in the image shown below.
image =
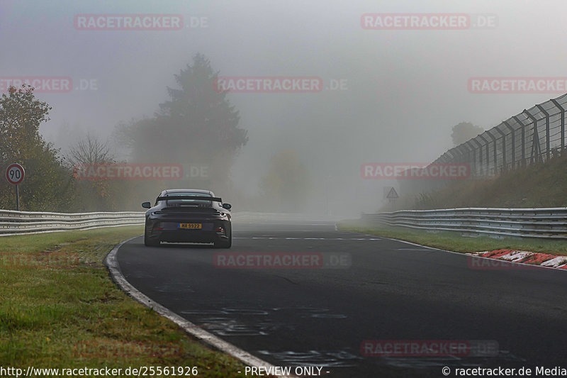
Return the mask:
[[[103,257],[142,231],[1,237],[0,367],[197,367],[198,377],[245,377],[237,374],[242,363],[206,348],[113,284]]]

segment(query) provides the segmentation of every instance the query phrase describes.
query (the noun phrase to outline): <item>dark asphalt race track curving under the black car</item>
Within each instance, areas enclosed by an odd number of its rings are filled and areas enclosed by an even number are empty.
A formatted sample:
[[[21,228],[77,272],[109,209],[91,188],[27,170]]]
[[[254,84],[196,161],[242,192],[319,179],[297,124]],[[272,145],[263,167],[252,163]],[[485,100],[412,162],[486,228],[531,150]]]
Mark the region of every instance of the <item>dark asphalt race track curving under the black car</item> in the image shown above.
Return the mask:
[[[118,262],[151,299],[276,366],[323,366],[327,377],[567,367],[567,272],[479,269],[466,255],[341,232],[333,223],[234,223],[233,237],[230,250],[146,248],[136,238],[120,248]],[[226,254],[242,253],[291,253],[310,263],[229,269]],[[489,340],[498,351],[364,356],[364,340]]]

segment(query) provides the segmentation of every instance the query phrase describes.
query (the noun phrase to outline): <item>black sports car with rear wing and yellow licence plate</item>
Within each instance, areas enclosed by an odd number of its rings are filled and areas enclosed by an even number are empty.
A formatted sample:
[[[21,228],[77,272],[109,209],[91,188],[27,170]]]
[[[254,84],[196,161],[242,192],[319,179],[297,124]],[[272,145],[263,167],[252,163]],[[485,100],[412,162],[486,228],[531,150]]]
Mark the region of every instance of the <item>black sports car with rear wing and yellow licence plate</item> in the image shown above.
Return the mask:
[[[232,229],[230,204],[200,189],[167,189],[146,211],[144,244],[156,247],[161,242],[213,243],[215,248],[230,248]]]

